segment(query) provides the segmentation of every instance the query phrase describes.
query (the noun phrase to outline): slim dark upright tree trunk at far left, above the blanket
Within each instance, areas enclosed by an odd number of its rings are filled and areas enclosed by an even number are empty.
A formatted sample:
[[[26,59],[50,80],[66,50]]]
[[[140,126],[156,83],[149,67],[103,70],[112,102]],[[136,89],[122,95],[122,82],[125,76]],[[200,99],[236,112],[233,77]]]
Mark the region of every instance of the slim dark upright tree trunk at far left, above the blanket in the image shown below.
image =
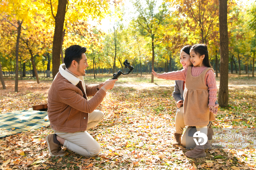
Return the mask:
[[[23,20],[22,20],[23,22]],[[22,22],[18,21],[18,35],[16,40],[16,50],[15,50],[15,59],[16,59],[16,70],[15,70],[15,92],[18,92],[18,77],[19,77],[19,38],[21,32]]]

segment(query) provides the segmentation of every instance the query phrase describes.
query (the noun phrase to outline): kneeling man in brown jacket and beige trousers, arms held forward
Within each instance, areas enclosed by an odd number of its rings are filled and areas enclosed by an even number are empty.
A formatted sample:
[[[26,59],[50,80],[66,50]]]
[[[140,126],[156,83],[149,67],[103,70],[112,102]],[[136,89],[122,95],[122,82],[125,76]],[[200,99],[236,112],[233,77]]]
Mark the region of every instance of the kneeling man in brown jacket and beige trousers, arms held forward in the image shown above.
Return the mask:
[[[101,151],[96,140],[86,131],[104,118],[95,110],[112,89],[116,80],[106,80],[97,86],[84,84],[88,67],[86,47],[72,45],[65,50],[64,63],[59,68],[48,94],[48,117],[54,134],[46,137],[49,153],[62,157],[61,145],[84,157],[94,157]],[[93,96],[90,100],[87,97]]]

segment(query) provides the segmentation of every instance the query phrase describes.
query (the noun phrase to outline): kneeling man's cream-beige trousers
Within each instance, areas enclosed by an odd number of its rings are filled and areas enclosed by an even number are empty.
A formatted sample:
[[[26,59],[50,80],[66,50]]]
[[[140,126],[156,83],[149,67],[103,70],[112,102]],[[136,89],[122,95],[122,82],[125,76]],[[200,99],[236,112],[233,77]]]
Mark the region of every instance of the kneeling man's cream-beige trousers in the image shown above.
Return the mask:
[[[102,111],[94,110],[92,113],[89,113],[87,130],[97,125],[103,118],[104,113]],[[54,133],[65,139],[63,146],[84,157],[95,157],[101,151],[97,141],[87,131],[75,133],[54,131]]]

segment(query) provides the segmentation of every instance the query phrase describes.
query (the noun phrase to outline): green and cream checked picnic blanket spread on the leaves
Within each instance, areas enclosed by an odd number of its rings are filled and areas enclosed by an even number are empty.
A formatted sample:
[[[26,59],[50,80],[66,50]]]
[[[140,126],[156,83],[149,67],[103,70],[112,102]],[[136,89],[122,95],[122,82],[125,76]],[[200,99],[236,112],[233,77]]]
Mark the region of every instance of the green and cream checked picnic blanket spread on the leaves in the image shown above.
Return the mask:
[[[50,125],[47,112],[20,110],[0,114],[0,138]]]

